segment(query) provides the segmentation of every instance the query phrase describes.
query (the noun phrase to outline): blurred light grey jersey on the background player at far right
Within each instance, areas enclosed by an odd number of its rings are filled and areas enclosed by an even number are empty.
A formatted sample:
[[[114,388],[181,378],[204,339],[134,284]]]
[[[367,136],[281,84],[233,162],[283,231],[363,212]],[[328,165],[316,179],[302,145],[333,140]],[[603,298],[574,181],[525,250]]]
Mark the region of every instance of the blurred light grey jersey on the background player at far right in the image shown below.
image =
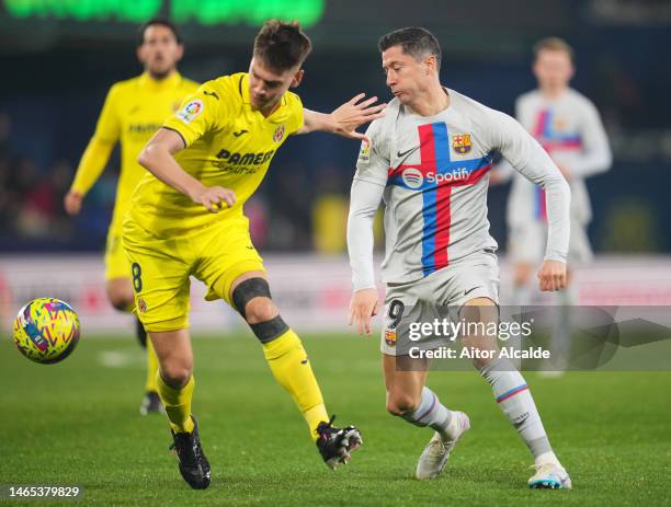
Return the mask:
[[[607,171],[612,161],[599,112],[576,90],[569,89],[555,100],[534,90],[518,99],[515,115],[553,160],[570,171],[571,219],[588,223],[592,209],[584,178]],[[513,174],[508,165],[502,165],[502,173]],[[508,200],[508,224],[515,227],[546,218],[543,189],[514,174]]]

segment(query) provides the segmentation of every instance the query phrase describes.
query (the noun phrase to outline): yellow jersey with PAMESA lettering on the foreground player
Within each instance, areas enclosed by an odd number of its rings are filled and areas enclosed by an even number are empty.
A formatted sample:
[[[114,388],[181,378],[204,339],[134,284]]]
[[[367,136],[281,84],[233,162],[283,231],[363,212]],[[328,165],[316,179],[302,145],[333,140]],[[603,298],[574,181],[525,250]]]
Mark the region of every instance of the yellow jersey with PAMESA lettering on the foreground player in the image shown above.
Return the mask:
[[[186,148],[175,154],[180,166],[205,186],[230,188],[236,204],[212,214],[148,173],[135,188],[128,218],[158,237],[193,233],[218,220],[240,218],[273,155],[302,126],[303,103],[295,93],[286,92],[266,118],[250,104],[246,72],[206,82],[163,127],[184,140]]]

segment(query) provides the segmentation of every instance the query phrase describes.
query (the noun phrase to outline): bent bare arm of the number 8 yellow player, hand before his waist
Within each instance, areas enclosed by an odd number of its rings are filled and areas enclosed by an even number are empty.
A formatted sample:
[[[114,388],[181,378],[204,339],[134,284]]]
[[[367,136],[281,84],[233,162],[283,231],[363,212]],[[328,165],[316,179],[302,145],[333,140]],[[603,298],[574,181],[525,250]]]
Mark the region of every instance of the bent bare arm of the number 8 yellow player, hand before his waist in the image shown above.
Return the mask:
[[[184,140],[177,131],[159,129],[140,151],[138,163],[160,181],[189,196],[194,203],[202,204],[208,211],[217,212],[224,203],[231,207],[236,194],[220,186],[206,187],[180,168],[173,154],[184,148]]]

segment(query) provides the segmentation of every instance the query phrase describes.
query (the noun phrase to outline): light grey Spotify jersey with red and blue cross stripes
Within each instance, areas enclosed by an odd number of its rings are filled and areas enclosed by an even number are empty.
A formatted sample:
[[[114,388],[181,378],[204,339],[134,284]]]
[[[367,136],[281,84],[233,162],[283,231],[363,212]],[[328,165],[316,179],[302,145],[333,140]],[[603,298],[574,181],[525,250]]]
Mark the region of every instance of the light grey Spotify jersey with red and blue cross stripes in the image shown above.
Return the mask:
[[[450,106],[435,116],[414,114],[393,100],[385,117],[371,124],[352,185],[348,247],[354,288],[374,286],[372,216],[385,204],[383,278],[405,283],[496,250],[487,219],[492,152],[550,197],[546,258],[565,261],[570,192],[541,146],[508,115],[453,90]]]

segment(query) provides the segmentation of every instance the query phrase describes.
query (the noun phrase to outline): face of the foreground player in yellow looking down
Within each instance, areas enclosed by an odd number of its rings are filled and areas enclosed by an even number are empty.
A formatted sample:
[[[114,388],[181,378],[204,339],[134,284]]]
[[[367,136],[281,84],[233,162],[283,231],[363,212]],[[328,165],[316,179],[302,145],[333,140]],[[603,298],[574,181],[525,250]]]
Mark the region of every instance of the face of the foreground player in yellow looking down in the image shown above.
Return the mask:
[[[303,70],[299,67],[273,71],[262,60],[252,58],[249,66],[249,99],[252,106],[260,111],[274,108],[282,95],[289,89],[295,88],[303,79]]]

